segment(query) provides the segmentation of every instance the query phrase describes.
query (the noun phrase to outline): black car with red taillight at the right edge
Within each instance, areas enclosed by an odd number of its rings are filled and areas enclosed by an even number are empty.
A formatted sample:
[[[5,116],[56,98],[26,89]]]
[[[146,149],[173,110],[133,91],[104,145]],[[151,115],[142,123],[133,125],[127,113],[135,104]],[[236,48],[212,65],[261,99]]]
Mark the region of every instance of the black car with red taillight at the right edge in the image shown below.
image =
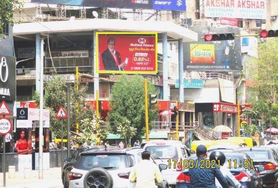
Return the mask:
[[[263,166],[265,170],[259,172],[264,188],[273,188],[277,181],[278,155],[271,148],[241,148],[235,152],[244,152],[253,160],[255,167]]]

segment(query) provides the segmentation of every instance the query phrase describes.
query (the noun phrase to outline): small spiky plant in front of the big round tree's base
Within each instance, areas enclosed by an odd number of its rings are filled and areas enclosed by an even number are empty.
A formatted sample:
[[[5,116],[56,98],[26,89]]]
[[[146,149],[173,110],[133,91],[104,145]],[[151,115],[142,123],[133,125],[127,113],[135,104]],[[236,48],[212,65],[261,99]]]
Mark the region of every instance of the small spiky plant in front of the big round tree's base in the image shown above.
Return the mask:
[[[128,145],[130,145],[129,139],[136,135],[136,130],[136,128],[130,126],[128,119],[125,119],[117,127],[118,134],[125,139],[125,143],[128,143]]]

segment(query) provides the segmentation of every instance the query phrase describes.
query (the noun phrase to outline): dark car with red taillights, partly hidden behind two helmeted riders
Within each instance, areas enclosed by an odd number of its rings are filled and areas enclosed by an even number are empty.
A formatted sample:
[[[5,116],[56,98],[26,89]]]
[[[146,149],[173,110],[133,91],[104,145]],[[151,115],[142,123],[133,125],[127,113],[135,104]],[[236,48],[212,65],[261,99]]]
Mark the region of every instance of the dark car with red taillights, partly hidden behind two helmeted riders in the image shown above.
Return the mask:
[[[262,179],[259,177],[257,169],[251,165],[251,158],[240,152],[224,152],[226,156],[225,166],[230,169],[235,179],[244,186],[244,188],[262,188]],[[208,153],[209,155],[210,153]],[[195,160],[197,157],[190,157],[189,160]],[[209,156],[208,156],[209,158]],[[245,166],[245,167],[244,167]],[[260,171],[264,168],[259,168]],[[192,188],[188,169],[184,169],[177,177],[176,188]]]

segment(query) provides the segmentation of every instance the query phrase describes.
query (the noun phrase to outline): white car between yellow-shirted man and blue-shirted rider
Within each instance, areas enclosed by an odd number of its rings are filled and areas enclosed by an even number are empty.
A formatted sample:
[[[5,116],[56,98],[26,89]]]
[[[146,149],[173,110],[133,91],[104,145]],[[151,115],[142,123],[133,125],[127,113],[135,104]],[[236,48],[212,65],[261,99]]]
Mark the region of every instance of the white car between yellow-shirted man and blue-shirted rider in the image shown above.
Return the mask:
[[[174,168],[174,162],[172,160],[187,159],[194,153],[193,150],[189,150],[181,141],[177,140],[149,141],[141,144],[141,148],[150,151],[150,155],[157,164],[166,164],[169,166],[169,169],[163,170],[162,173],[170,187],[175,187],[176,178],[182,170],[182,168]],[[179,166],[179,163],[177,163],[177,166]]]

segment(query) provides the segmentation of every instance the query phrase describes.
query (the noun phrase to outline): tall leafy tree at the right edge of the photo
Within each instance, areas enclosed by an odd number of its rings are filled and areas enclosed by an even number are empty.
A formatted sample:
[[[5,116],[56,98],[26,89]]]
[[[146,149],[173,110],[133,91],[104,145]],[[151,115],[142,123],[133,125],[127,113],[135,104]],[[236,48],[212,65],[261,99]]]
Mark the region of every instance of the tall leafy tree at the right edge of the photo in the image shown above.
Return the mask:
[[[278,38],[267,38],[267,42],[258,46],[259,57],[257,69],[254,75],[256,85],[251,94],[253,109],[249,116],[262,119],[262,124],[269,124],[269,116],[272,116],[272,124],[278,125]],[[270,112],[272,110],[272,112]]]

